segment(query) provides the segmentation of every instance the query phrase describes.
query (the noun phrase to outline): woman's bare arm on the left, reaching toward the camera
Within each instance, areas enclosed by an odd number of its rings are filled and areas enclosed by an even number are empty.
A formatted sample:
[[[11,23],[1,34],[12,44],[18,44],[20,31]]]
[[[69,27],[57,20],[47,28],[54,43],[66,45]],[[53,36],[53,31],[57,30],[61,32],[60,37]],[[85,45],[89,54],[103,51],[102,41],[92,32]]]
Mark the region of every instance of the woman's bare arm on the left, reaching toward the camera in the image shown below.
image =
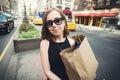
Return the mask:
[[[50,64],[48,59],[48,48],[49,48],[49,41],[42,40],[40,43],[40,58],[41,58],[43,71],[46,74],[46,76],[49,78],[49,80],[61,80],[57,75],[55,75],[50,70]]]

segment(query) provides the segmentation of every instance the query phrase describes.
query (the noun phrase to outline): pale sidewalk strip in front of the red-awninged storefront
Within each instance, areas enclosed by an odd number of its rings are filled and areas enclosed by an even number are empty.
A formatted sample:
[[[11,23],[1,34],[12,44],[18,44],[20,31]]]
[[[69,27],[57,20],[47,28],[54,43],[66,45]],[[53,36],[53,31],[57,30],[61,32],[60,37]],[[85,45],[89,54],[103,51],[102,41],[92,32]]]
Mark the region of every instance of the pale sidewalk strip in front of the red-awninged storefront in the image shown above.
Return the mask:
[[[82,25],[82,24],[77,24],[78,28],[87,28],[89,30],[93,31],[101,31],[101,32],[109,32],[109,33],[114,33],[114,34],[120,34],[120,30],[113,29],[111,32],[109,31],[109,28],[105,28],[105,31],[103,31],[103,27],[96,27],[96,26],[88,26],[88,25]]]

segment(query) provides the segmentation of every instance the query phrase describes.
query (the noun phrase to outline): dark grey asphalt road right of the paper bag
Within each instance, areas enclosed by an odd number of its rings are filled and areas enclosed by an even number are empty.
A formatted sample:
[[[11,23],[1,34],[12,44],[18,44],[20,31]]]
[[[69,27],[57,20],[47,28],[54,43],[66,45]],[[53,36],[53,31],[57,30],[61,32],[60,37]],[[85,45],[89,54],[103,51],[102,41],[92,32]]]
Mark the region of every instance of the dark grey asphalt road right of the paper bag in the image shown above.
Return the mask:
[[[99,62],[96,80],[120,80],[120,35],[82,29]],[[71,32],[71,34],[80,34]]]

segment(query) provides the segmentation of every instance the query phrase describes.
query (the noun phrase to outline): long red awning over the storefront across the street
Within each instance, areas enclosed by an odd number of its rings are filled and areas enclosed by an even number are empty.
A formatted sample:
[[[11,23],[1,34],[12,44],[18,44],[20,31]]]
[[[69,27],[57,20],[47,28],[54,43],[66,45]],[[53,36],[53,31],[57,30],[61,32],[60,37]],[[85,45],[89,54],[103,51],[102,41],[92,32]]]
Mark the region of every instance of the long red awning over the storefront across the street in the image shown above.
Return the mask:
[[[118,13],[76,13],[74,16],[115,17]]]

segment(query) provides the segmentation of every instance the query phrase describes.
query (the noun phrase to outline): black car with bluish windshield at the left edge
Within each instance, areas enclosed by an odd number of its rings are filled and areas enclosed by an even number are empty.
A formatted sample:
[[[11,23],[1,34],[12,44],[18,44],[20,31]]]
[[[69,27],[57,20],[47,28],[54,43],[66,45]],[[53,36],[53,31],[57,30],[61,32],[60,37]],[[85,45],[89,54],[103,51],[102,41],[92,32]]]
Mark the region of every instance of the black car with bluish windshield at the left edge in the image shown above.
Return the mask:
[[[9,33],[14,28],[14,18],[7,13],[0,13],[0,34]]]

